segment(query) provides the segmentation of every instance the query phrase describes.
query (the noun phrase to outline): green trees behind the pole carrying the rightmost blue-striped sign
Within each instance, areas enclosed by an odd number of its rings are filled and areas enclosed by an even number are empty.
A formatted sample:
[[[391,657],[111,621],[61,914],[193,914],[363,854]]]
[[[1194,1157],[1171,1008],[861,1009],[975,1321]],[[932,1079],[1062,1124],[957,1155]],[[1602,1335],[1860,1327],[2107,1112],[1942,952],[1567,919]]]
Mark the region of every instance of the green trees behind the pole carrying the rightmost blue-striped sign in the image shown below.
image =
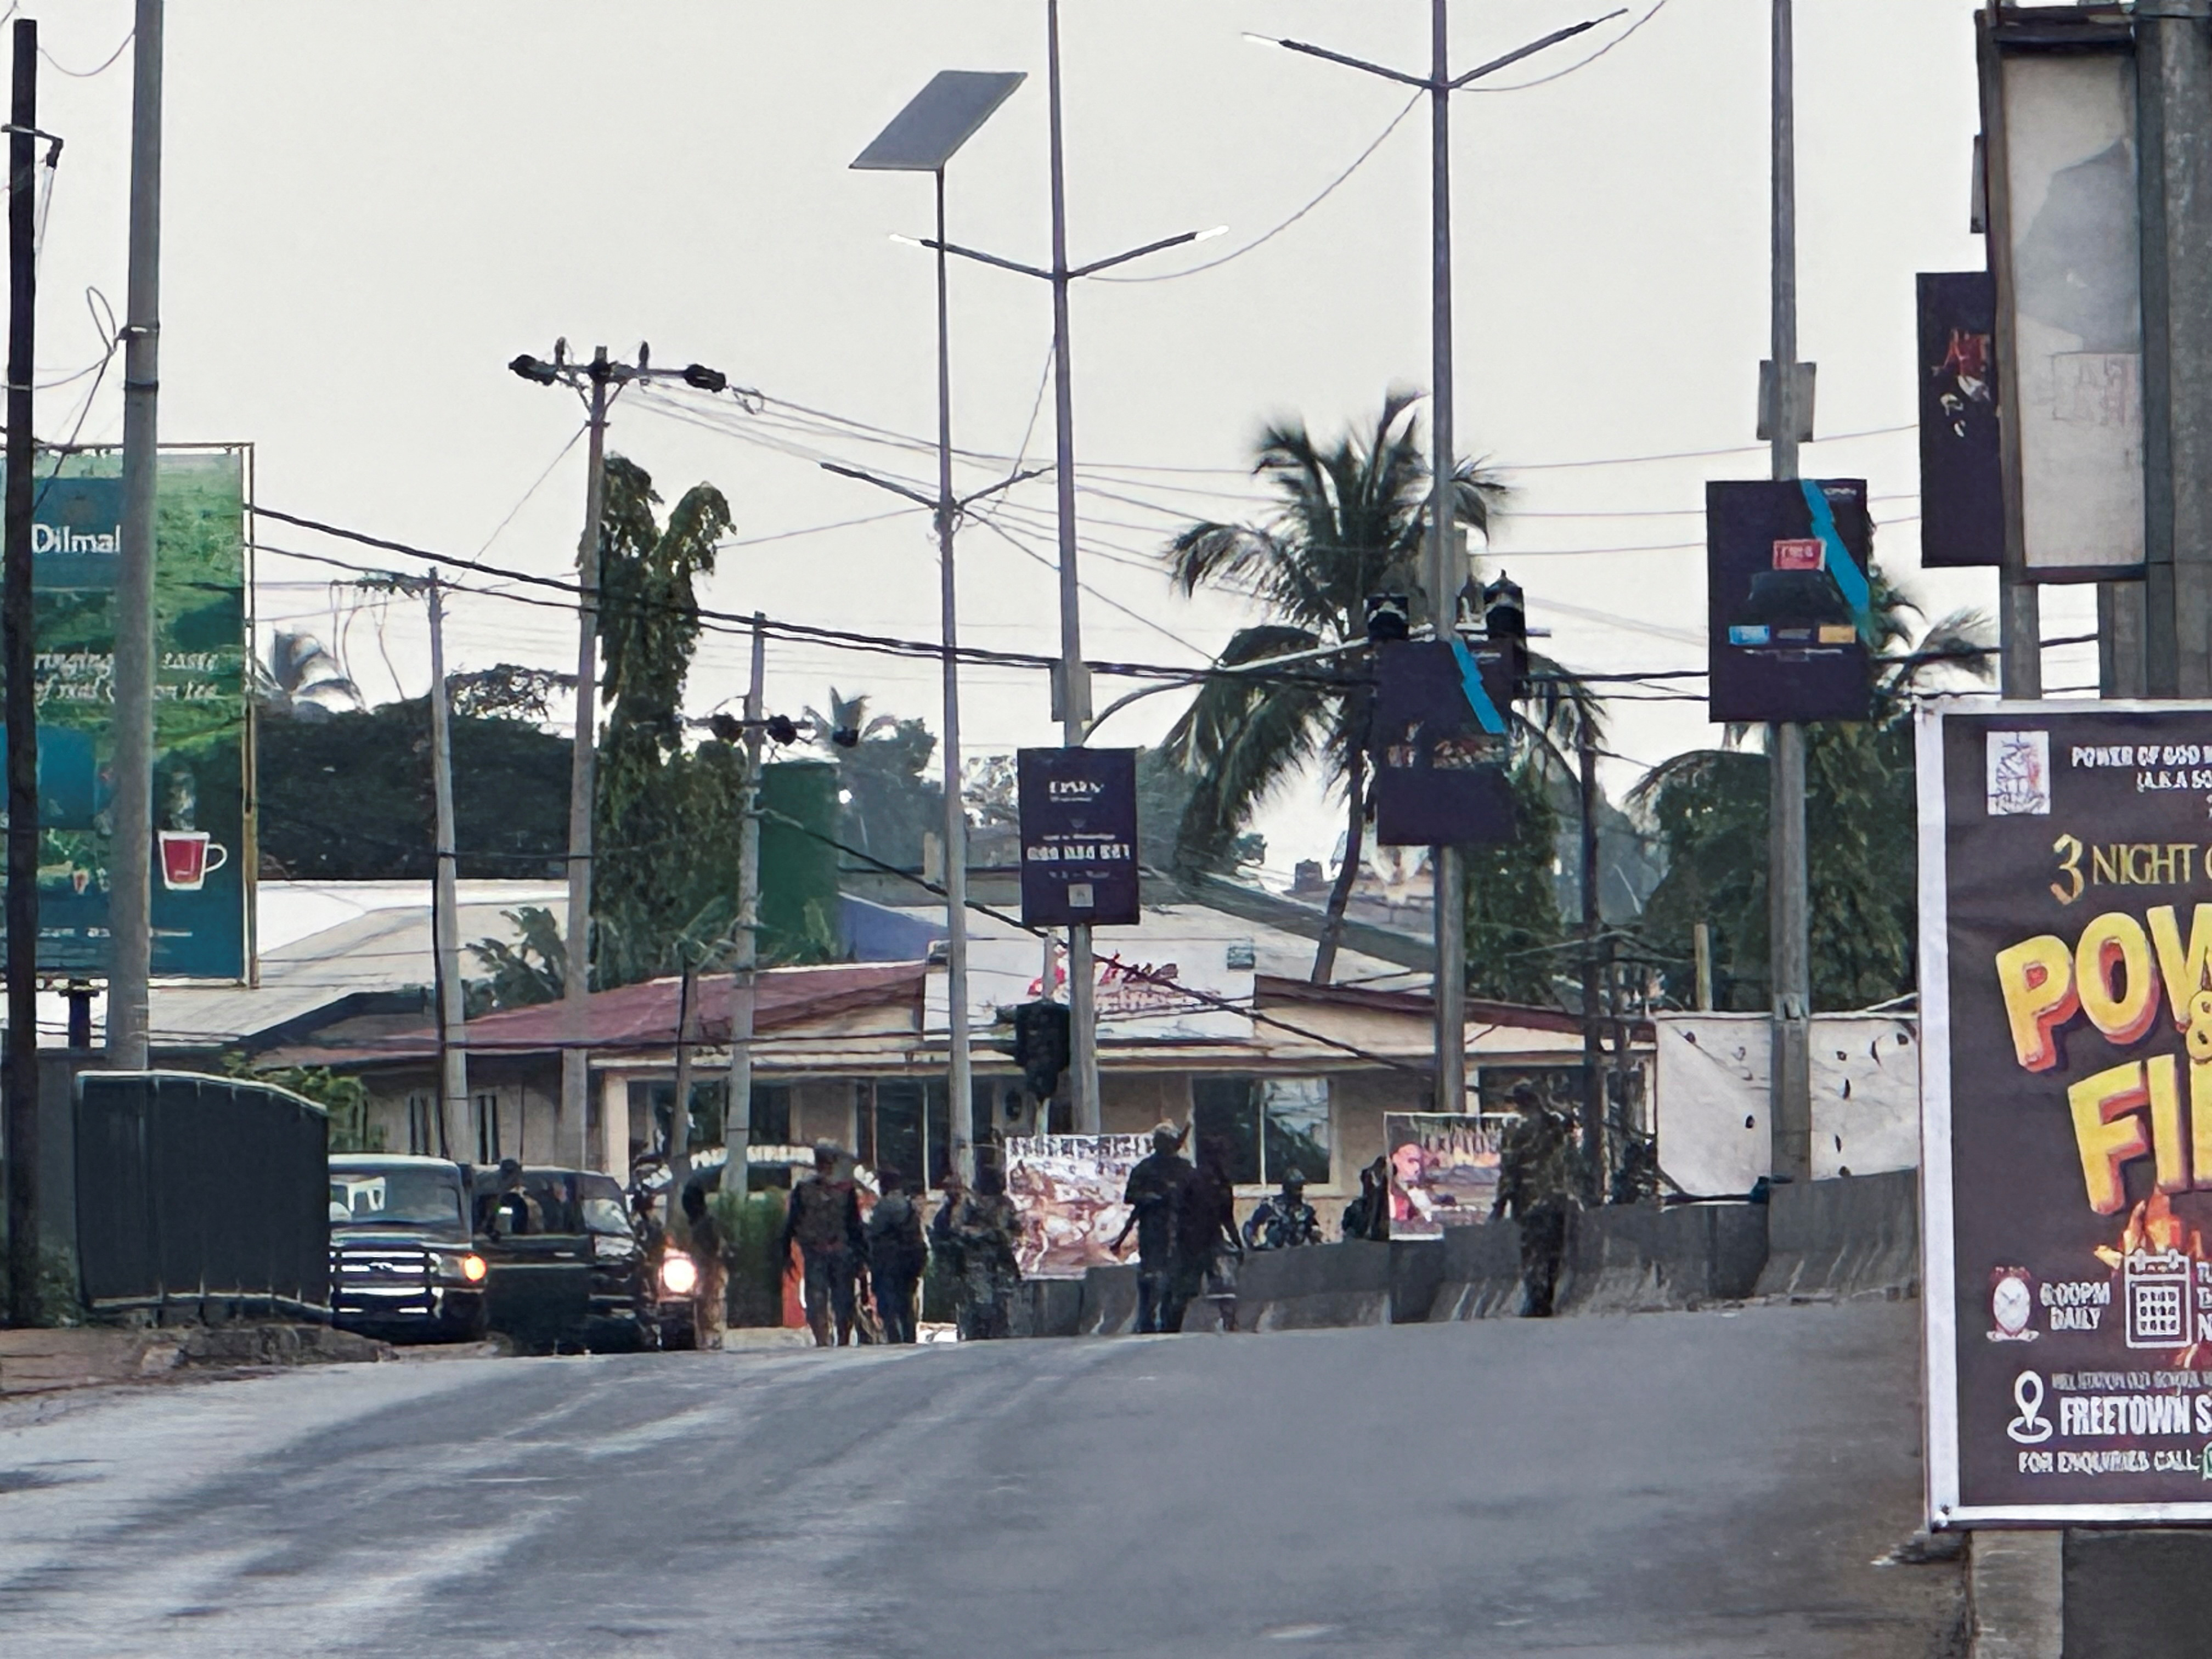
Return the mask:
[[[1942,617],[1918,646],[1918,606],[1874,573],[1876,679],[1867,721],[1805,728],[1805,845],[1816,1009],[1865,1009],[1913,989],[1916,878],[1913,697],[1944,672],[1991,677],[1989,622]],[[1694,995],[1692,929],[1712,929],[1714,1004],[1765,1009],[1767,757],[1692,750],[1652,768],[1630,794],[1666,852],[1644,936],[1672,964],[1668,993]]]

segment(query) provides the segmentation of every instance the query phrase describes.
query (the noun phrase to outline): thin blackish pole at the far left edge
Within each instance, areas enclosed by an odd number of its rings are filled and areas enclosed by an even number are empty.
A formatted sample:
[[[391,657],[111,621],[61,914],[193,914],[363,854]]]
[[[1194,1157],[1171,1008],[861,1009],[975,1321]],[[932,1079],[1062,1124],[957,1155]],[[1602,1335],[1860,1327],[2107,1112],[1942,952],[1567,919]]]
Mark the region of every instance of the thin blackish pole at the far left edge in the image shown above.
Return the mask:
[[[7,672],[7,1298],[38,1323],[38,641],[31,602],[31,380],[38,316],[38,24],[15,22],[7,197],[7,511],[0,657]]]

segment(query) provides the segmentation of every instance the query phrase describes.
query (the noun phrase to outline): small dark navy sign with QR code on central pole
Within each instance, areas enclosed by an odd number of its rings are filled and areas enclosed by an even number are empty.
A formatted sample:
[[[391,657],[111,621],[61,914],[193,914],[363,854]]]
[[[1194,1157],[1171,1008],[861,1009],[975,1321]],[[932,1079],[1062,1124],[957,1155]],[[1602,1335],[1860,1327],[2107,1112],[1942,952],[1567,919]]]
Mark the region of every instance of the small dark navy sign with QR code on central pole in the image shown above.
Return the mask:
[[[1137,922],[1137,750],[1022,750],[1022,925]]]

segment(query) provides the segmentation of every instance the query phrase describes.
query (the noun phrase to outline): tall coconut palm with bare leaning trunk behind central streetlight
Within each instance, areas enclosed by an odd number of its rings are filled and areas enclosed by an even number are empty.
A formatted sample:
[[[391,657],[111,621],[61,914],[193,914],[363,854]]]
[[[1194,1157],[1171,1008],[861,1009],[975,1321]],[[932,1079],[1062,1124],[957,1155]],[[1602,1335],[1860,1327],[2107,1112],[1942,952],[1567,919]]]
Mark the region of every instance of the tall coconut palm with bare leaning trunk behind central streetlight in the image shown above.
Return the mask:
[[[1265,524],[1190,524],[1170,542],[1170,580],[1186,595],[1221,586],[1254,595],[1274,613],[1239,628],[1219,666],[1358,644],[1367,637],[1367,595],[1420,593],[1429,467],[1413,403],[1413,392],[1389,392],[1374,427],[1347,431],[1327,449],[1303,422],[1265,427],[1252,471],[1274,489],[1274,515]],[[1451,482],[1453,518],[1486,535],[1506,487],[1464,460]],[[1425,611],[1433,613],[1436,599],[1427,595]],[[1219,865],[1261,799],[1305,761],[1318,761],[1343,785],[1345,858],[1314,953],[1316,984],[1336,967],[1360,869],[1371,714],[1371,679],[1321,659],[1279,677],[1208,679],[1164,741],[1194,779],[1177,832],[1183,869]]]

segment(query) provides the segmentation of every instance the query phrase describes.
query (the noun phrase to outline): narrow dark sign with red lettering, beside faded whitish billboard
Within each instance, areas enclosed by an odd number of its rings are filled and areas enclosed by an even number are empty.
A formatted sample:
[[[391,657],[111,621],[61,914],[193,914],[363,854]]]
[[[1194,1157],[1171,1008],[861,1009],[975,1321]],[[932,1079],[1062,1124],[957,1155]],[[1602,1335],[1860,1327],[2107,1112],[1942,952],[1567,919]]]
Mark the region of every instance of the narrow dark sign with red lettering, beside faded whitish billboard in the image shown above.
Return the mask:
[[[1920,274],[1920,564],[2004,564],[1997,283]]]

